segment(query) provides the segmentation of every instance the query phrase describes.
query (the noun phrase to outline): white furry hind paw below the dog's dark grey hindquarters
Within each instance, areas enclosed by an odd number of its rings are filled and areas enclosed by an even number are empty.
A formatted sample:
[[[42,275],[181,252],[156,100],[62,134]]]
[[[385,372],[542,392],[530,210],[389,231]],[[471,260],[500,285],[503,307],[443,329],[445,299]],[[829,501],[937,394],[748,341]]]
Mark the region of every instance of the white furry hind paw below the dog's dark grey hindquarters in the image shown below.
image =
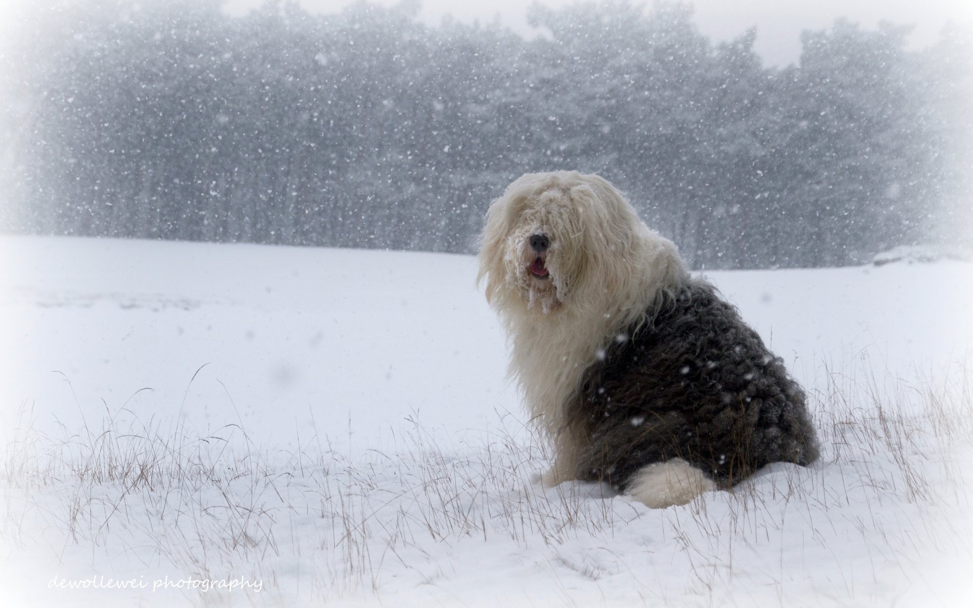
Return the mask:
[[[631,497],[651,509],[685,505],[716,484],[682,458],[642,467],[631,480]]]

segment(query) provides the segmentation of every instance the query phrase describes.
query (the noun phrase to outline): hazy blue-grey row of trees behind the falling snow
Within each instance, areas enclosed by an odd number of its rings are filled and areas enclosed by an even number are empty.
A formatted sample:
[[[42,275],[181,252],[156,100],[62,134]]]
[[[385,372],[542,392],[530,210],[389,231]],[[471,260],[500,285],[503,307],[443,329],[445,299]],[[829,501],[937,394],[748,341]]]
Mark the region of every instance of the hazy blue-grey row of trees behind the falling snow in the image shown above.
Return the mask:
[[[968,30],[838,21],[765,66],[692,9],[538,6],[547,35],[269,2],[24,9],[0,71],[0,232],[469,253],[524,172],[598,172],[694,268],[969,243]]]

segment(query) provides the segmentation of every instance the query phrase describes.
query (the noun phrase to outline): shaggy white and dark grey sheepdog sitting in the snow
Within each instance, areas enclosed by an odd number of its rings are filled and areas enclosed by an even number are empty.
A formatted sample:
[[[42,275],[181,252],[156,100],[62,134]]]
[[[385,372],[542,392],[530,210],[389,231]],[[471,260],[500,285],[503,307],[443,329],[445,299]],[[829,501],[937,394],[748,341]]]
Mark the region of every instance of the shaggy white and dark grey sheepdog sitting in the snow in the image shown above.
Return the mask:
[[[493,201],[479,280],[555,461],[649,507],[818,454],[801,387],[675,245],[597,175],[527,174]]]

